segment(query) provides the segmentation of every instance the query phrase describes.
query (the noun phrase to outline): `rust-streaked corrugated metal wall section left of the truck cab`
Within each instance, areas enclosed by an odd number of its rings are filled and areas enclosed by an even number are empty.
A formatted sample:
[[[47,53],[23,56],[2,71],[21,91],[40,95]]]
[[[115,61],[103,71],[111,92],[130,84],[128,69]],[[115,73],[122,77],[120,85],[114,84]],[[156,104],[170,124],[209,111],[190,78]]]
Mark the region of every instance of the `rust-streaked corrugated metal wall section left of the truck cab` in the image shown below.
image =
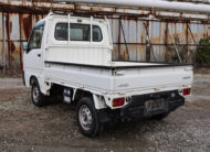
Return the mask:
[[[32,26],[43,17],[43,14],[0,12],[0,63],[2,66],[4,63],[7,68],[21,67],[21,44],[28,41]]]

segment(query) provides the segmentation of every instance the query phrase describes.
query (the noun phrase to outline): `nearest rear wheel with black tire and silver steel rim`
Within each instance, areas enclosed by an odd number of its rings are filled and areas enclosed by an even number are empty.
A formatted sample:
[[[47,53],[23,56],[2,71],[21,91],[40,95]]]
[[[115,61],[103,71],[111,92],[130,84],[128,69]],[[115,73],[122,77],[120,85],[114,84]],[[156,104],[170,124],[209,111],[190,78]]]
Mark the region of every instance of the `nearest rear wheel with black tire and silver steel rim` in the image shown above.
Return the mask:
[[[91,116],[88,115],[90,112],[83,111],[83,115],[81,113],[82,110],[84,110],[84,108],[90,110]],[[90,118],[92,117],[92,121],[90,123],[87,122],[88,124],[86,124],[87,127],[85,127],[85,124],[82,122],[82,121],[85,121],[84,113],[86,115],[86,121],[90,120],[87,117]],[[94,102],[88,97],[84,97],[78,101],[76,106],[76,120],[77,120],[77,124],[80,127],[81,132],[86,137],[94,138],[102,131],[103,126],[98,120],[97,111],[95,109]]]

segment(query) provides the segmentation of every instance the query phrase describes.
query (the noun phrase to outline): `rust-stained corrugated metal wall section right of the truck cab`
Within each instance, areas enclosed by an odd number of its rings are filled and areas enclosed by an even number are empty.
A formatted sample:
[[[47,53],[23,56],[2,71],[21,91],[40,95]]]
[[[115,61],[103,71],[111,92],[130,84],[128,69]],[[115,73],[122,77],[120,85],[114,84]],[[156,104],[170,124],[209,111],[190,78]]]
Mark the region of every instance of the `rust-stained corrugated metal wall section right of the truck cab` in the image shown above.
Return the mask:
[[[124,29],[125,39],[123,36]],[[196,50],[200,39],[210,35],[210,24],[188,23],[188,22],[165,22],[144,20],[109,20],[113,29],[114,59],[146,61],[146,46],[148,45],[146,26],[153,44],[155,58],[157,62],[166,62],[168,47],[174,47],[174,43],[188,47],[189,53]],[[189,28],[187,28],[189,25]],[[192,35],[190,33],[192,32]],[[193,42],[196,40],[196,44]],[[126,48],[126,44],[127,48]],[[127,54],[127,50],[129,55]],[[154,61],[153,53],[150,61]],[[190,59],[185,58],[187,62]]]

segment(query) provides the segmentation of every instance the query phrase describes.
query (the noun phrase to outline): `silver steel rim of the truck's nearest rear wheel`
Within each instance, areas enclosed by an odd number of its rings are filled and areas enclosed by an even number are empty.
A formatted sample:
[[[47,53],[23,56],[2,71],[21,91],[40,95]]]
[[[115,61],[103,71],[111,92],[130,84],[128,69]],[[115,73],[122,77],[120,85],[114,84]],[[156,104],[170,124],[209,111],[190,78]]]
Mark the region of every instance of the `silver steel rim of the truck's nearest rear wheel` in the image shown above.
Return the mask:
[[[80,123],[84,130],[91,129],[91,126],[93,122],[93,117],[92,117],[90,108],[86,105],[83,105],[80,108],[78,119],[80,119]]]

